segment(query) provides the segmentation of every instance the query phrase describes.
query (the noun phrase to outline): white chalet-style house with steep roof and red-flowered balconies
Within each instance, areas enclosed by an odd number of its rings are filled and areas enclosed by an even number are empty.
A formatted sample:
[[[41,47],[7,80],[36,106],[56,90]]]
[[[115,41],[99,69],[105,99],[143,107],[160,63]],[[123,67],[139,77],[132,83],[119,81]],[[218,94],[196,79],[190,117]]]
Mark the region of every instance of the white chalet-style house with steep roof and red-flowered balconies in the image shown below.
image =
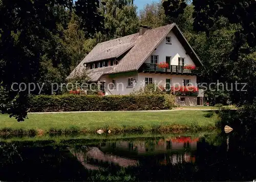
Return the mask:
[[[98,43],[68,79],[87,72],[106,95],[128,95],[155,83],[175,94],[180,105],[202,105],[197,88],[201,66],[176,24],[142,26],[139,33]],[[184,89],[188,86],[193,91]]]

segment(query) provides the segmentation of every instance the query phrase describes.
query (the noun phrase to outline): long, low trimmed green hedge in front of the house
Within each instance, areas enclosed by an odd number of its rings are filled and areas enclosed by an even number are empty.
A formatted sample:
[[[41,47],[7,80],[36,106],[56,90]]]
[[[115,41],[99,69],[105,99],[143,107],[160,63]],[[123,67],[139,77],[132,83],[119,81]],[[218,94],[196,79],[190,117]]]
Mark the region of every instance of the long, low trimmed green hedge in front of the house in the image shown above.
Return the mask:
[[[171,109],[173,103],[168,102],[165,95],[39,95],[29,100],[30,112]]]

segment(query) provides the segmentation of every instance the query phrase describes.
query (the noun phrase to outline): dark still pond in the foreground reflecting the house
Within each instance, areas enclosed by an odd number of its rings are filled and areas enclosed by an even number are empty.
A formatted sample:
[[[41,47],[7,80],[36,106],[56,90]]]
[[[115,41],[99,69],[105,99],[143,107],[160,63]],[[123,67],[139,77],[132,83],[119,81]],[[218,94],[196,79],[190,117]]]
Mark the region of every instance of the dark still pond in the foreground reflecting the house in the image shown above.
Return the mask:
[[[252,181],[256,151],[244,143],[216,132],[2,139],[0,180]]]

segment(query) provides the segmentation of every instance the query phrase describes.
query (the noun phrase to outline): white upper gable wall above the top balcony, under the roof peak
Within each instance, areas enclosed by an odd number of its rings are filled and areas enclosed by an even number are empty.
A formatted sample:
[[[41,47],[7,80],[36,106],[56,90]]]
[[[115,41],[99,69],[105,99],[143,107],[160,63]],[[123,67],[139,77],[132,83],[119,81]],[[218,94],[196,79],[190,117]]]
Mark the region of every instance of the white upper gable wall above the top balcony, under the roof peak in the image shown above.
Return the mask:
[[[178,40],[178,38],[175,36],[173,31],[170,31],[167,36],[172,37],[172,44],[166,44],[165,38],[161,41],[161,43],[158,45],[156,50],[151,55],[158,55],[158,63],[165,62],[166,56],[171,57],[170,64],[172,65],[178,65],[178,58],[182,57],[185,58],[184,64],[191,64],[195,66],[195,63],[192,61],[192,59],[189,57],[189,55],[186,54],[185,49],[183,48],[182,44]],[[149,56],[145,63],[151,63],[151,56]]]

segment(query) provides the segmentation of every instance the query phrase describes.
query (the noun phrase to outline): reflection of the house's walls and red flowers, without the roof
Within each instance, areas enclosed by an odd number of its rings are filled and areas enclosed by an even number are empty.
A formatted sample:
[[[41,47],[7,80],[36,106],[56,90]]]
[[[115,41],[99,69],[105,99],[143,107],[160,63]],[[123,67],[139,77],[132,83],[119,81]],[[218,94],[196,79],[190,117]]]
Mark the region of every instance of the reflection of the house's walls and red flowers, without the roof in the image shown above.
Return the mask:
[[[134,159],[138,159],[143,155],[158,155],[159,157],[163,155],[162,159],[159,161],[160,164],[177,164],[181,162],[194,163],[194,153],[197,149],[198,140],[198,138],[179,137],[134,142],[106,142],[101,143],[100,150]]]

